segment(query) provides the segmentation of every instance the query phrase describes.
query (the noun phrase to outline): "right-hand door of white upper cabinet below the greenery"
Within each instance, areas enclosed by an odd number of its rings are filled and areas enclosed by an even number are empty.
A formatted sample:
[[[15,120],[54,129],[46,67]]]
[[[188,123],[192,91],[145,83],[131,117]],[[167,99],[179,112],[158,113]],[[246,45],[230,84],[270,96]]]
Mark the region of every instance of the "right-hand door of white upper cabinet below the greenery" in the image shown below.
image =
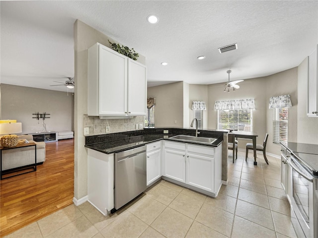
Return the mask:
[[[145,116],[147,113],[147,68],[128,59],[128,116]]]

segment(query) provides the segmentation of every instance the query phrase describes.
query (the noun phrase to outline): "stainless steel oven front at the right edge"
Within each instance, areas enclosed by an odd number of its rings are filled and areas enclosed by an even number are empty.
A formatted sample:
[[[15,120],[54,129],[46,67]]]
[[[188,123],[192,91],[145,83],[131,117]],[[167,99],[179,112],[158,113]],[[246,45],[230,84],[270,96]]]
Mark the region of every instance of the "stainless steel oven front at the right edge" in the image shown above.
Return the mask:
[[[298,237],[318,238],[318,178],[293,154],[288,162],[291,166],[291,218],[295,232]]]

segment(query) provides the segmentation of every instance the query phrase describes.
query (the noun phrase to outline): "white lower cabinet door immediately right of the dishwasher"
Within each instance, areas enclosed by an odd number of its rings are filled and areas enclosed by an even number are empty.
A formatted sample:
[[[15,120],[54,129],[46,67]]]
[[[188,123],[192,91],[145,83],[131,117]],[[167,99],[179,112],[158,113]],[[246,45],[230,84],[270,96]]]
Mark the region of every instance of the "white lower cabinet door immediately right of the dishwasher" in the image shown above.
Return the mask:
[[[161,150],[147,153],[147,186],[161,176]]]

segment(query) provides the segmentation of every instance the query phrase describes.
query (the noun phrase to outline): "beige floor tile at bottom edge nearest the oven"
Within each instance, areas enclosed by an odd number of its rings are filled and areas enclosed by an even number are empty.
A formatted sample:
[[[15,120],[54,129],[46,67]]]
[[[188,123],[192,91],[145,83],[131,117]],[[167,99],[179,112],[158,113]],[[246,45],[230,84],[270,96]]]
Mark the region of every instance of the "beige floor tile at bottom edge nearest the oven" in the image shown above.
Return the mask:
[[[276,232],[287,237],[297,237],[289,216],[274,211],[272,212],[272,214]]]

